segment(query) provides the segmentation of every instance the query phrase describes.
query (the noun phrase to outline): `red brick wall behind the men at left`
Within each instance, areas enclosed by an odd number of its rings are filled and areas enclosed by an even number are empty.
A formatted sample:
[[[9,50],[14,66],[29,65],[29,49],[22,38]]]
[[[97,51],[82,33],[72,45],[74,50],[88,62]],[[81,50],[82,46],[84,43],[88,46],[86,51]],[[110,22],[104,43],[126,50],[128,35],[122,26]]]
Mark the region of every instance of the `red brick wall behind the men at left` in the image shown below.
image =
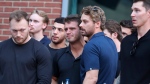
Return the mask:
[[[50,37],[51,26],[56,17],[61,16],[62,0],[0,0],[0,41],[11,37],[9,31],[9,14],[14,10],[24,10],[30,14],[34,9],[45,11],[50,23],[45,35]]]

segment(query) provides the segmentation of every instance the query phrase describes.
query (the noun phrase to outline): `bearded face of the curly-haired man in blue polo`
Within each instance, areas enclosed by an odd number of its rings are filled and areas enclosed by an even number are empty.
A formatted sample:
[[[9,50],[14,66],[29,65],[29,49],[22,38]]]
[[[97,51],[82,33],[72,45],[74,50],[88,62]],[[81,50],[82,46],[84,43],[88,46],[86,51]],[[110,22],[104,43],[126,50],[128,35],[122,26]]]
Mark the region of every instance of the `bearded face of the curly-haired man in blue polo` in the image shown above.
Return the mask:
[[[91,37],[94,34],[95,25],[89,15],[81,15],[81,33],[83,36]]]

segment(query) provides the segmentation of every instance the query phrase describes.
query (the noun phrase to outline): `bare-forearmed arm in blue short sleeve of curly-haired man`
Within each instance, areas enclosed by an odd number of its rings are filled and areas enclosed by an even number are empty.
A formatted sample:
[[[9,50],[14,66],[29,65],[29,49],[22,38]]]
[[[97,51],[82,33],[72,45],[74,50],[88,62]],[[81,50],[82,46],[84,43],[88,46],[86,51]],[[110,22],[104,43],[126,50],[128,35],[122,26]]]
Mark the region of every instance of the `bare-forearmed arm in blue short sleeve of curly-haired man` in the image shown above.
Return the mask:
[[[86,44],[81,58],[83,63],[83,84],[96,84],[100,69],[99,51],[93,45]]]

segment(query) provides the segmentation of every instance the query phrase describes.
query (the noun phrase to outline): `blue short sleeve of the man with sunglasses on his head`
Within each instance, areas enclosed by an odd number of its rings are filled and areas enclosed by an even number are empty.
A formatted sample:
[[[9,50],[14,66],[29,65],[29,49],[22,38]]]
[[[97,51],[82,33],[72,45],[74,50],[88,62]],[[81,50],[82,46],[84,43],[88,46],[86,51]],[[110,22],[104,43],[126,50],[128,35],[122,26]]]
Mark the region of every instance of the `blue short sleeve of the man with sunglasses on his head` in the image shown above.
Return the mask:
[[[82,60],[84,63],[85,71],[89,70],[99,70],[100,62],[99,62],[100,51],[99,48],[94,44],[86,44],[84,46],[84,50],[82,53]]]

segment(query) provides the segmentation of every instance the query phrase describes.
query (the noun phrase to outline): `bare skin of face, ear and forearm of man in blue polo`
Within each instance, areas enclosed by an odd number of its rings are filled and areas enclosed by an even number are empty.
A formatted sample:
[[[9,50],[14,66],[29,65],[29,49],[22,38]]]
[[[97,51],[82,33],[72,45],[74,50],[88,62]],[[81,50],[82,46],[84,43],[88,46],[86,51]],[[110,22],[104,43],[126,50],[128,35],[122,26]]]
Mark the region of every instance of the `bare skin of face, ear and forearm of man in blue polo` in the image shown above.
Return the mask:
[[[85,15],[84,13],[81,16],[81,30],[82,30],[82,34],[83,35],[87,35],[87,37],[90,39],[94,34],[98,33],[98,32],[102,32],[102,30],[100,29],[100,25],[101,22],[97,21],[97,22],[93,22],[91,17],[88,15]],[[90,28],[89,28],[90,27]],[[90,32],[92,29],[93,32]],[[90,35],[88,35],[89,33],[91,33]],[[89,70],[86,72],[85,78],[83,80],[83,84],[96,84],[97,80],[98,80],[98,73],[99,70]]]

